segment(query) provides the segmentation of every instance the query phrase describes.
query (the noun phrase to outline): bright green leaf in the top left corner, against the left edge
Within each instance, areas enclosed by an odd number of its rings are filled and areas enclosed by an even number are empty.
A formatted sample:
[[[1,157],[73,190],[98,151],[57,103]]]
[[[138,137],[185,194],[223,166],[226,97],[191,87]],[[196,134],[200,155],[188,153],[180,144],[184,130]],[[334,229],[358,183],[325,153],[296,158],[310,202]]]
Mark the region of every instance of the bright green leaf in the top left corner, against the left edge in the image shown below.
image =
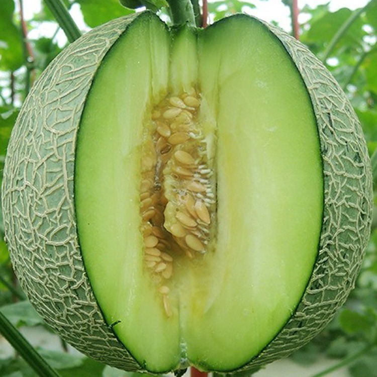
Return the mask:
[[[0,1],[0,69],[14,71],[24,62],[22,39],[13,22],[15,3]]]

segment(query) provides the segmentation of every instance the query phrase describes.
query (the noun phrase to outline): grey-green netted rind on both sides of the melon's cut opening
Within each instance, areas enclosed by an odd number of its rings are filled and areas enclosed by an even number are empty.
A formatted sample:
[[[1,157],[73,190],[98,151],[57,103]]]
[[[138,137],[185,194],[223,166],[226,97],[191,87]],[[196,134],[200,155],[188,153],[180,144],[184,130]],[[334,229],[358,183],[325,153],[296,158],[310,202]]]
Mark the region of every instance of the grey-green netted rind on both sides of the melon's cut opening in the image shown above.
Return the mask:
[[[38,313],[88,356],[142,371],[144,365],[117,339],[93,295],[74,206],[76,137],[90,86],[107,52],[139,17],[157,22],[143,13],[98,27],[69,45],[41,75],[12,133],[2,201],[12,263]],[[371,224],[370,162],[351,105],[305,46],[264,25],[291,55],[309,92],[323,166],[323,218],[318,256],[299,305],[274,339],[237,370],[287,356],[324,328],[354,287]]]

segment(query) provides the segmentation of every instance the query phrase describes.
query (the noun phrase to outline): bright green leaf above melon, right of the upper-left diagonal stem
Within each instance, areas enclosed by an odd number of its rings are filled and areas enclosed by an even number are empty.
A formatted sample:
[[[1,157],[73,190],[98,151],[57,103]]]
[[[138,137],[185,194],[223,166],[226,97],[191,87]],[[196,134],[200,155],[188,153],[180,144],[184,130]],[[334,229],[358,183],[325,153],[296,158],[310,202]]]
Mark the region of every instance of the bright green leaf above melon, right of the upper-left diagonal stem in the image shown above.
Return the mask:
[[[76,0],[76,3],[80,5],[85,24],[91,28],[134,13],[122,7],[118,0]]]

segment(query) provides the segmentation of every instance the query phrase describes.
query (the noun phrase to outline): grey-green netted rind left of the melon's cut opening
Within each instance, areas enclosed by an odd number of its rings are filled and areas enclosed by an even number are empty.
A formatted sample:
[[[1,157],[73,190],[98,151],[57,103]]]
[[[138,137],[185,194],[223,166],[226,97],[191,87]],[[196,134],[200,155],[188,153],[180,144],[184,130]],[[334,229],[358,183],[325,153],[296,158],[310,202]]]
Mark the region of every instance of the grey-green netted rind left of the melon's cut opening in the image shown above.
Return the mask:
[[[139,365],[104,322],[77,243],[73,173],[77,125],[98,65],[132,18],[72,43],[35,84],[6,160],[6,239],[20,284],[39,314],[89,356],[119,368]]]

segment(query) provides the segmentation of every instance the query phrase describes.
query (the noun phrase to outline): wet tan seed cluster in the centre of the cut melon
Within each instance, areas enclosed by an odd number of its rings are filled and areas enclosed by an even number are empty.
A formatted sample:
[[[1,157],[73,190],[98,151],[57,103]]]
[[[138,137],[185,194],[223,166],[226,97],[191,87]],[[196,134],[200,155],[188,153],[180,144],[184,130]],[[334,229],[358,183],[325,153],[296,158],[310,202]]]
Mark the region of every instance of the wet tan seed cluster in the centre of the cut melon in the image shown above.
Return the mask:
[[[169,279],[174,260],[213,251],[215,214],[214,151],[198,120],[200,96],[165,98],[143,130],[140,214],[145,266],[168,317]]]

